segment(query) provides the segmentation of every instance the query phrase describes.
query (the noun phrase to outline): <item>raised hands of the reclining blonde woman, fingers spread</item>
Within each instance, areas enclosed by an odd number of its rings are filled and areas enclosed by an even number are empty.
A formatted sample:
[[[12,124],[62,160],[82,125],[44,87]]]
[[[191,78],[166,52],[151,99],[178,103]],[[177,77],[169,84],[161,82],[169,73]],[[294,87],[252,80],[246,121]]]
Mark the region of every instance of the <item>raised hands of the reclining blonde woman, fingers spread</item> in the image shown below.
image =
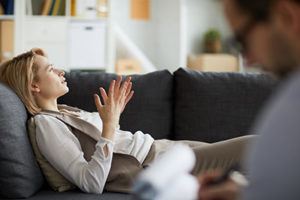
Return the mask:
[[[100,88],[103,103],[99,96],[94,94],[95,104],[103,121],[102,137],[113,139],[114,130],[119,124],[120,115],[133,95],[130,80],[130,77],[127,78],[122,85],[122,77],[119,77],[117,81],[113,80],[109,86],[108,95],[103,88]]]

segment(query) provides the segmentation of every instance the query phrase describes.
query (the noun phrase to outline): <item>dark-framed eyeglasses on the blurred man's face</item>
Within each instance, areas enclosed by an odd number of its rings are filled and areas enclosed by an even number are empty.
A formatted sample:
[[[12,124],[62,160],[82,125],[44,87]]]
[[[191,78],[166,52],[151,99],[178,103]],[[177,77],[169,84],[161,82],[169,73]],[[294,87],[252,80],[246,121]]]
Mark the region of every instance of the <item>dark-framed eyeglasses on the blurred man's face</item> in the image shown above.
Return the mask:
[[[229,39],[230,47],[240,53],[246,53],[248,51],[247,38],[258,23],[257,20],[250,20],[241,31],[235,33],[235,35]]]

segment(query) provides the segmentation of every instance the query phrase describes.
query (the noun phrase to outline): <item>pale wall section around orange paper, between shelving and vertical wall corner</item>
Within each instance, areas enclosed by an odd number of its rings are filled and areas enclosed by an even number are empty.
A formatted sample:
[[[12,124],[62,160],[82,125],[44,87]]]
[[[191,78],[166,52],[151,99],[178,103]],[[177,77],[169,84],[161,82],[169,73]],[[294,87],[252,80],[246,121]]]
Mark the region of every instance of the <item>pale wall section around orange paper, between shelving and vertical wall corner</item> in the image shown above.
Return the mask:
[[[180,63],[180,3],[182,0],[151,0],[150,20],[130,18],[130,0],[113,1],[114,20],[157,69],[170,71]],[[121,53],[119,52],[119,56]]]

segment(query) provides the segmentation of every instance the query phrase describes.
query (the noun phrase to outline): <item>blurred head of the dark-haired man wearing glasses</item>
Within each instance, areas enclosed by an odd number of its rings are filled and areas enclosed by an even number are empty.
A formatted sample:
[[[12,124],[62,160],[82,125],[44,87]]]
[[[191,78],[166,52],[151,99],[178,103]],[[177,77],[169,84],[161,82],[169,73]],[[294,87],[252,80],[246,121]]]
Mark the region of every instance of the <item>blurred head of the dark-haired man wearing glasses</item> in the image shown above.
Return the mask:
[[[300,0],[225,0],[249,63],[284,76],[300,66]]]

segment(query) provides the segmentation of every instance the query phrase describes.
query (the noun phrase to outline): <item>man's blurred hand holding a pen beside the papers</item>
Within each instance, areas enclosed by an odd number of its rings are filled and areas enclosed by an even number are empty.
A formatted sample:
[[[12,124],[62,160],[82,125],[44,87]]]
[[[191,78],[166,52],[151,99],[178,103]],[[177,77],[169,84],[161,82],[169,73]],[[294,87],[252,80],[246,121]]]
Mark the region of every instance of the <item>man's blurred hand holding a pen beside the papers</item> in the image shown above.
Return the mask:
[[[236,200],[241,187],[231,179],[212,185],[211,183],[221,176],[221,172],[215,171],[200,175],[198,177],[200,189],[198,197],[200,200]]]

